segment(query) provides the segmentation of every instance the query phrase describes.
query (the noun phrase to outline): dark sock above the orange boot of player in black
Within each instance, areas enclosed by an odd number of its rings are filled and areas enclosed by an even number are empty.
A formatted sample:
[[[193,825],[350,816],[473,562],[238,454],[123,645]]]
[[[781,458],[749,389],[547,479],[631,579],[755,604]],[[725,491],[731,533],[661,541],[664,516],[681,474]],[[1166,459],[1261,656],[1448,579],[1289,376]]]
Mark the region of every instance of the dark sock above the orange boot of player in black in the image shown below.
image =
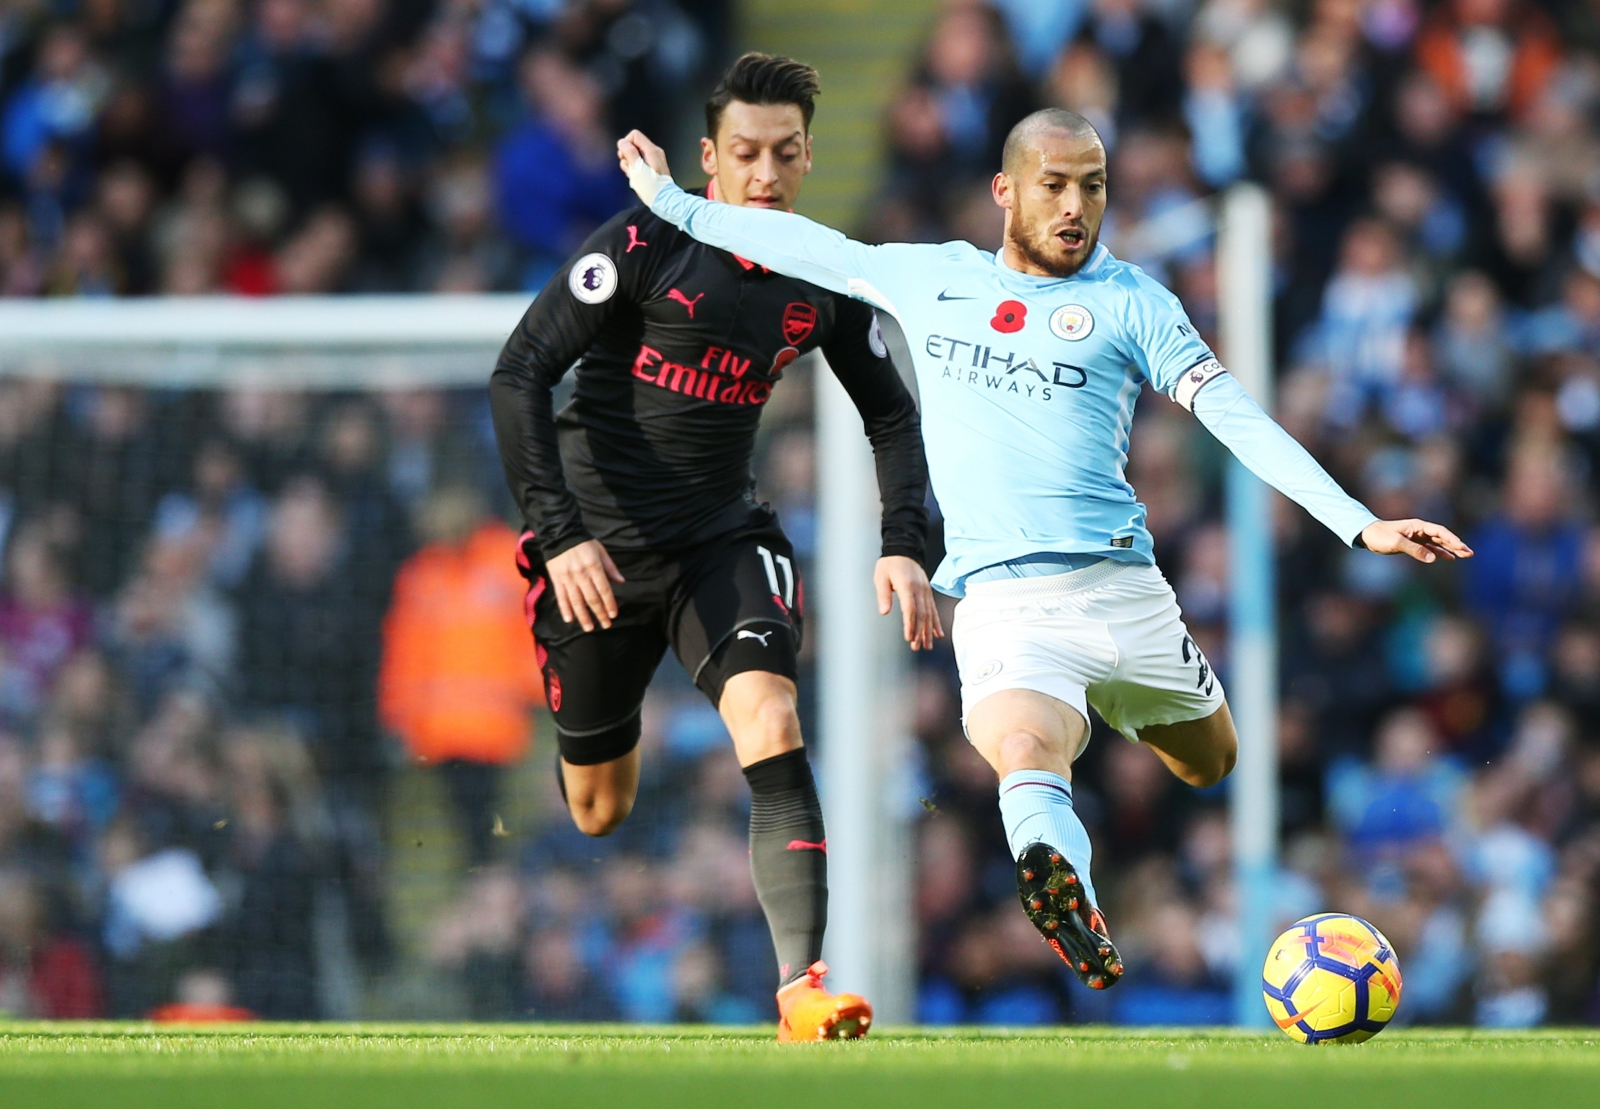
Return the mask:
[[[750,877],[778,952],[779,986],[822,957],[827,832],[805,749],[744,768],[750,783]]]

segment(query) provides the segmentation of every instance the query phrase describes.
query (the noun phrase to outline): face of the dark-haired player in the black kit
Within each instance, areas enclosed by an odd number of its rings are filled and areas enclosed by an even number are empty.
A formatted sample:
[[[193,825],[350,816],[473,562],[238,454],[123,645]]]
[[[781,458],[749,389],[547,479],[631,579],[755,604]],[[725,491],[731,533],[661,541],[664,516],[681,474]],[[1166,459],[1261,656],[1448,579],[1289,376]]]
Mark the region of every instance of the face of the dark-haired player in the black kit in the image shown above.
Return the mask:
[[[811,173],[811,136],[800,106],[730,102],[717,134],[701,139],[701,168],[715,184],[717,200],[794,208],[800,179]]]

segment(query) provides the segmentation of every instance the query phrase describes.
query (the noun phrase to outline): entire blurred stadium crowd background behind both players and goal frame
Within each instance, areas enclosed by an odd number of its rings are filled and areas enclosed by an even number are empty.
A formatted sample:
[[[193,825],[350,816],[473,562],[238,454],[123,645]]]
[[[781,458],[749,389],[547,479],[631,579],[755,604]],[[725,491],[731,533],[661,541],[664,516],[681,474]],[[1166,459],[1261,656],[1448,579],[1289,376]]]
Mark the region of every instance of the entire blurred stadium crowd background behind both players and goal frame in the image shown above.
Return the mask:
[[[0,0],[0,296],[531,296],[627,205],[618,133],[699,181],[746,46],[819,66],[802,208],[869,240],[994,248],[1005,131],[1085,114],[1104,240],[1208,334],[1206,198],[1270,189],[1280,419],[1478,552],[1278,502],[1278,914],[1386,930],[1402,1021],[1600,1021],[1595,0]],[[808,373],[758,459],[803,560]],[[1221,462],[1146,400],[1130,480],[1226,680]],[[669,659],[638,808],[579,835],[509,512],[482,389],[0,376],[0,1011],[773,1019],[720,720]],[[947,645],[915,738],[920,1021],[1230,1018],[1226,784],[1096,723],[1131,971],[1090,994],[1016,909]]]

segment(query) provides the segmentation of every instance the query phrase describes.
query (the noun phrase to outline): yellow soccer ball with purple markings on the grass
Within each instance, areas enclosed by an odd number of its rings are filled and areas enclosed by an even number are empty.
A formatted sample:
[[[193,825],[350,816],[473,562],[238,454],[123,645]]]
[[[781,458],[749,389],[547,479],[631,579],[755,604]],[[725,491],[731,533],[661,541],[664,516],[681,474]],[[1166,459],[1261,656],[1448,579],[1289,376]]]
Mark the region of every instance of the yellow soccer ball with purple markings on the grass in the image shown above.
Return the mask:
[[[1362,1043],[1400,1007],[1400,960],[1360,917],[1323,912],[1296,920],[1261,968],[1272,1023],[1301,1043]]]

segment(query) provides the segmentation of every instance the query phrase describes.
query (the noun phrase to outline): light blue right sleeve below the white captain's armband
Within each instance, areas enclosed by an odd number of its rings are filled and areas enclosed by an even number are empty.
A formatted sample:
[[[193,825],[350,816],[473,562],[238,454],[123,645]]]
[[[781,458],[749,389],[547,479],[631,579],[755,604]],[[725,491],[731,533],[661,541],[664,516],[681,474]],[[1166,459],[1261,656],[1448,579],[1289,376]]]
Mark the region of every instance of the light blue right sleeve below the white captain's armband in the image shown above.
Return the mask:
[[[1229,373],[1214,373],[1189,406],[1234,458],[1354,546],[1378,517],[1347,494],[1294,437],[1261,410]]]

